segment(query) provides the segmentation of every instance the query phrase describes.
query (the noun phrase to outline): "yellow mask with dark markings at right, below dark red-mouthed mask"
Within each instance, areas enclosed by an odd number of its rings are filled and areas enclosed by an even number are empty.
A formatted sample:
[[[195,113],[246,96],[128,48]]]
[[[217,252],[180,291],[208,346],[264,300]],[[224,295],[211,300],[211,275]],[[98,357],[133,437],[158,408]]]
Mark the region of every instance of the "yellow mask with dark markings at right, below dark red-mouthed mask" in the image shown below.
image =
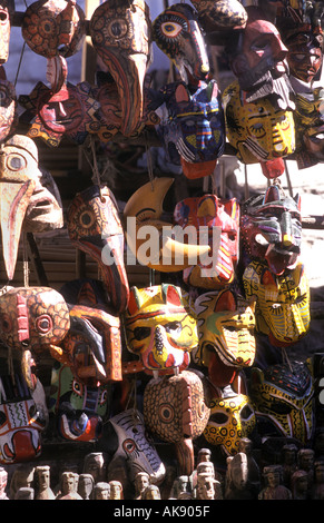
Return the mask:
[[[243,274],[247,299],[256,297],[256,330],[274,346],[289,346],[310,329],[310,286],[304,266],[274,275],[263,262],[252,262]]]

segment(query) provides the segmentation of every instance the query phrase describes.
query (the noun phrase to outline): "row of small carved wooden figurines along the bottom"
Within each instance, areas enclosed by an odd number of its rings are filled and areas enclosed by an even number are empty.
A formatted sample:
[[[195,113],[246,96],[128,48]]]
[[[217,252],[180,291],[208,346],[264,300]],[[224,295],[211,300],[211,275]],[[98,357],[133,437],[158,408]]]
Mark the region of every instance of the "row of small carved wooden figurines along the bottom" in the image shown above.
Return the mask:
[[[312,448],[298,450],[294,444],[282,448],[282,463],[261,468],[253,455],[253,444],[242,438],[239,452],[227,457],[226,473],[215,468],[209,448],[197,453],[196,468],[190,476],[176,476],[166,467],[161,485],[150,482],[146,472],[134,477],[134,500],[323,500],[324,457]],[[68,468],[68,467],[67,467]],[[86,455],[84,472],[70,466],[61,472],[51,489],[50,465],[20,464],[10,480],[0,467],[0,500],[124,500],[122,483],[105,477],[101,452]]]

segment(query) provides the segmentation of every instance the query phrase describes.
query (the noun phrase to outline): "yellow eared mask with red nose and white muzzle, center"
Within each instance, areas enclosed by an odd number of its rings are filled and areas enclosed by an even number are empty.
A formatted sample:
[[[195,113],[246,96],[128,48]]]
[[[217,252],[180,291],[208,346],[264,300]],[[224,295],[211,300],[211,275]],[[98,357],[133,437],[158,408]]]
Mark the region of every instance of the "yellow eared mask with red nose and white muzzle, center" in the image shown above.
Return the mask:
[[[151,371],[186,367],[198,344],[194,312],[179,287],[130,289],[125,313],[127,347]]]

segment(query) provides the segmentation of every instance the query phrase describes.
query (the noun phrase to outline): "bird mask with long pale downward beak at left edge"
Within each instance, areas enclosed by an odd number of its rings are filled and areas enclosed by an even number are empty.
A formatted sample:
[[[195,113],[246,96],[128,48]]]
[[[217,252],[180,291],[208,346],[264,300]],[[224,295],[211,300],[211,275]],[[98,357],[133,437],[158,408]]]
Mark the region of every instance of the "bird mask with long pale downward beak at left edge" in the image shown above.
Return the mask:
[[[13,278],[22,221],[39,182],[38,149],[22,135],[0,146],[0,225],[6,272]]]

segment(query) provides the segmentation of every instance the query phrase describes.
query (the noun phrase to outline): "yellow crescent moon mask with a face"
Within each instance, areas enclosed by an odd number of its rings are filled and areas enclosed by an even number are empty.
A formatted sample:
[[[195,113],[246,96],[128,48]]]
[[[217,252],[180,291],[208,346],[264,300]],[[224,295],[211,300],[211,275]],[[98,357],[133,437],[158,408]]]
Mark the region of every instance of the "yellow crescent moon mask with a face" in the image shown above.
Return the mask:
[[[206,243],[185,243],[184,235],[179,235],[173,224],[160,219],[164,198],[173,182],[173,178],[148,181],[134,193],[124,208],[128,254],[131,253],[140,265],[161,273],[181,270],[210,251]],[[128,263],[134,264],[134,260]]]

